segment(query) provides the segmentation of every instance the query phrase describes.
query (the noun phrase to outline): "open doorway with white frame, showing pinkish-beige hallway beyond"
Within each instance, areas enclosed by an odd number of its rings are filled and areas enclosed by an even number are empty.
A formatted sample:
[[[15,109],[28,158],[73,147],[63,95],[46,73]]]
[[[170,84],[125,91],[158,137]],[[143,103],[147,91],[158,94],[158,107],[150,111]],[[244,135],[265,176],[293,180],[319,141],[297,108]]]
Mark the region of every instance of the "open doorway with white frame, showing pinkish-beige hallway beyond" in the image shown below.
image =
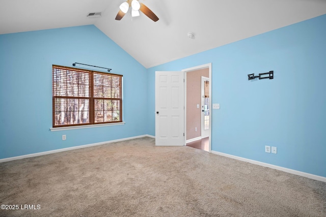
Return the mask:
[[[211,64],[182,70],[185,74],[185,142],[211,152]]]

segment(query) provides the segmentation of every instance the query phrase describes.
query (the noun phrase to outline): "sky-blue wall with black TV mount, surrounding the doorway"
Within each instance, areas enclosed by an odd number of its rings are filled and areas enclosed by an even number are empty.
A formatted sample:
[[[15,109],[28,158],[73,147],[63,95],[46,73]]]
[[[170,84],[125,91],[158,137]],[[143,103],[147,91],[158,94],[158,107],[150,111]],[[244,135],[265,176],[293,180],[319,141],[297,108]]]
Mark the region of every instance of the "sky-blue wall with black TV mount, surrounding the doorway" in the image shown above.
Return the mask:
[[[155,71],[212,63],[212,150],[326,177],[325,26],[323,15],[148,69],[148,134]],[[273,80],[248,81],[270,70]]]

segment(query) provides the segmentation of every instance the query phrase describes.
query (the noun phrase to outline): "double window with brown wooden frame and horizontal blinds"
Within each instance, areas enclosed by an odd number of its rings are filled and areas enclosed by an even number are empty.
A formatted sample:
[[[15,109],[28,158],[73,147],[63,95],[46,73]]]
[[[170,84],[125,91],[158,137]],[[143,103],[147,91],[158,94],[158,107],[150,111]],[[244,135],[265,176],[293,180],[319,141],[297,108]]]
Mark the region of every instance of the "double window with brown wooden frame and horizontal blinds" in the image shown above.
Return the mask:
[[[53,128],[122,122],[122,75],[52,65]]]

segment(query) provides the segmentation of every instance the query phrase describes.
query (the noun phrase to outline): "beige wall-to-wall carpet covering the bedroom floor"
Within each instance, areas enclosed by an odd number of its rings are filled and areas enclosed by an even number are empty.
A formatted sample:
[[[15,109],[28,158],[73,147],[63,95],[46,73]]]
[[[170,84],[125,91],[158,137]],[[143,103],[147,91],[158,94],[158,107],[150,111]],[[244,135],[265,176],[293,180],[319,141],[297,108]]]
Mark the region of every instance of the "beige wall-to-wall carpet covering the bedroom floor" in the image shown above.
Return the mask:
[[[326,182],[148,137],[1,163],[0,175],[0,204],[19,207],[0,216],[326,216]]]

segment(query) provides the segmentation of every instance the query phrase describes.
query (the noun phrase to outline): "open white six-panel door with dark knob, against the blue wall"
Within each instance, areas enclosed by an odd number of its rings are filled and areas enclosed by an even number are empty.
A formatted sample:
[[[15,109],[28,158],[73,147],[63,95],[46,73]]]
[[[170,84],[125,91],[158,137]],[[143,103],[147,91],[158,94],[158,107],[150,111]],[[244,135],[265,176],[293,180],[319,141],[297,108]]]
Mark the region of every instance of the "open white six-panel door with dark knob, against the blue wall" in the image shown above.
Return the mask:
[[[155,145],[184,145],[183,72],[155,72]]]

